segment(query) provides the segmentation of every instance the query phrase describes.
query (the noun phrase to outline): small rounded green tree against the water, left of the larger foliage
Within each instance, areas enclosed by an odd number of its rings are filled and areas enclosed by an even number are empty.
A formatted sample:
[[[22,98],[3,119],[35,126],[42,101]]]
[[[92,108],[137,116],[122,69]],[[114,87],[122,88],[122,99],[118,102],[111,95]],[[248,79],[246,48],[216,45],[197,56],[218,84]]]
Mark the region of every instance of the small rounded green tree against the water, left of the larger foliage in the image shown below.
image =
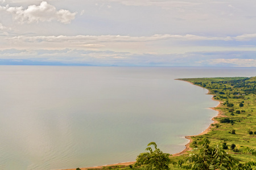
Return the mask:
[[[153,151],[151,147],[147,147],[146,151],[137,156],[135,167],[146,166],[147,169],[170,169],[169,164],[171,163],[170,154],[163,153],[157,148],[155,142],[148,143],[147,146],[154,146]]]

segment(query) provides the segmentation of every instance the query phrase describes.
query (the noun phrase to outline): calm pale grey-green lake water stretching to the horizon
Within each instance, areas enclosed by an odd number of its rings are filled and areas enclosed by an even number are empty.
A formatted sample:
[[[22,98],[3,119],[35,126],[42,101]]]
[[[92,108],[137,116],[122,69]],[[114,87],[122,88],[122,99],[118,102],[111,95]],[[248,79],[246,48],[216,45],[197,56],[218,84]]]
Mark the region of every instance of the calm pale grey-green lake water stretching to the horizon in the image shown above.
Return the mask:
[[[0,169],[134,161],[149,142],[174,154],[217,114],[208,91],[175,78],[255,68],[0,66]]]

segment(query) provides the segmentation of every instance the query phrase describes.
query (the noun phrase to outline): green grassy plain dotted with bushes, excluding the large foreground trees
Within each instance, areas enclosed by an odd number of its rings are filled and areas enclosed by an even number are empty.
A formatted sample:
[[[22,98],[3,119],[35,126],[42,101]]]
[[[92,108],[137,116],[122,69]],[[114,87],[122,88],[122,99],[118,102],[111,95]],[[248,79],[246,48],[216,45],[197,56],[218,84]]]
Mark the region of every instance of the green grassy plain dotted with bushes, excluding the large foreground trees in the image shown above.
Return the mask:
[[[225,151],[241,163],[249,161],[255,162],[255,156],[244,153],[243,148],[256,149],[256,76],[253,78],[189,78],[179,79],[191,82],[197,86],[207,88],[214,100],[220,101],[220,105],[215,108],[221,113],[221,117],[216,117],[216,124],[207,134],[192,137],[191,151],[186,154],[172,157],[174,162],[178,162],[188,154],[199,152],[198,141],[207,137],[210,145],[224,145]],[[151,142],[151,141],[148,141]],[[234,145],[235,147],[234,147]],[[232,148],[232,145],[234,148]],[[170,165],[171,169],[182,169]],[[104,167],[105,169],[143,169],[127,167]]]

